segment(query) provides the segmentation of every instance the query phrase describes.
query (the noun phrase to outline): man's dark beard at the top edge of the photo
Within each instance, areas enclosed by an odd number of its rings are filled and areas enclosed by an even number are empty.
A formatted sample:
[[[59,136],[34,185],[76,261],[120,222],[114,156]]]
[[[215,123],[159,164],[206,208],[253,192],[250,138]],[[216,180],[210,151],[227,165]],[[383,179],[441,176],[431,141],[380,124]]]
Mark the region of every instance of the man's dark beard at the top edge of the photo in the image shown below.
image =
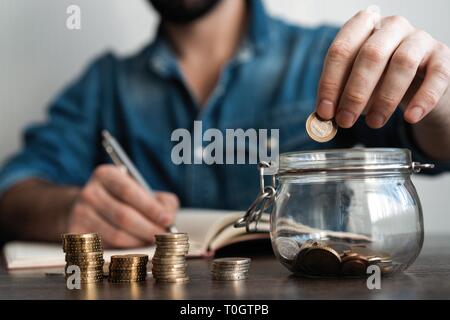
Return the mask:
[[[208,14],[221,0],[148,0],[163,20],[187,24]]]

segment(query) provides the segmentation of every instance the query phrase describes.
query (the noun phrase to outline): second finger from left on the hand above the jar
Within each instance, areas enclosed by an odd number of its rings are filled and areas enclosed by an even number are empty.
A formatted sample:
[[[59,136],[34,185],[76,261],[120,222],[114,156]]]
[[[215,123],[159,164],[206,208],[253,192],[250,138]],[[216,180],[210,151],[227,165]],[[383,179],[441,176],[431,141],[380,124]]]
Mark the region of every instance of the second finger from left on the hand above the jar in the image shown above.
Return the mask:
[[[414,28],[401,17],[384,19],[383,27],[361,47],[336,111],[336,123],[350,128],[367,106],[399,44]]]

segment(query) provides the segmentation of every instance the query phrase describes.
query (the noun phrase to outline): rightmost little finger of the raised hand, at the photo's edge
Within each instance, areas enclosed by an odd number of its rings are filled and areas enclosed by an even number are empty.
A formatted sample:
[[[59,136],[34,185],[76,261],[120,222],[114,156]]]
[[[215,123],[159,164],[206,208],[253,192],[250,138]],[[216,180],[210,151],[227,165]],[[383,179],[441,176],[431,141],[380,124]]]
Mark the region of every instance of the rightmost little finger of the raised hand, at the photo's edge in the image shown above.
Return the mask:
[[[448,90],[450,81],[450,50],[436,43],[428,63],[425,79],[405,110],[405,120],[411,124],[421,121],[433,110]]]

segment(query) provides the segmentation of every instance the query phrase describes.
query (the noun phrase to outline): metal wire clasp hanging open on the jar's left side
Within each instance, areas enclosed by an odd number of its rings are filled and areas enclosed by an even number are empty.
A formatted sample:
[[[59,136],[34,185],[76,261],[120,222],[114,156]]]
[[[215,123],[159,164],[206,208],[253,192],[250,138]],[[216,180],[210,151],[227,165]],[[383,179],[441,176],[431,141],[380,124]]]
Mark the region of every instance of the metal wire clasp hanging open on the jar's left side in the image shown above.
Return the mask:
[[[264,161],[258,164],[260,188],[258,197],[248,208],[245,215],[234,223],[235,228],[245,227],[249,233],[268,232],[268,230],[258,229],[258,222],[263,213],[272,206],[276,194],[275,175],[272,175],[272,185],[265,186],[264,171],[270,167],[271,164]]]

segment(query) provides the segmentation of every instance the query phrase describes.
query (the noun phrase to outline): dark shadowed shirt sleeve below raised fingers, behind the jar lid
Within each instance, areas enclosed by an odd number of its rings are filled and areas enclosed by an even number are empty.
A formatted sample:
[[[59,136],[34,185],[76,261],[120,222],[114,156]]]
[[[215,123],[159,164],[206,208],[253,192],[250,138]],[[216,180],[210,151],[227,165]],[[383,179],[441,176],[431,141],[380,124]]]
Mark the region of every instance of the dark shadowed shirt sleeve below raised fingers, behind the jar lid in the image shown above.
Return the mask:
[[[437,161],[421,150],[412,134],[412,127],[404,121],[403,114],[397,109],[389,122],[382,129],[371,129],[364,117],[361,117],[351,129],[339,129],[336,147],[353,147],[363,145],[368,148],[404,148],[411,150],[415,162],[432,163],[434,169],[423,171],[424,174],[437,175],[450,171],[450,161]]]

